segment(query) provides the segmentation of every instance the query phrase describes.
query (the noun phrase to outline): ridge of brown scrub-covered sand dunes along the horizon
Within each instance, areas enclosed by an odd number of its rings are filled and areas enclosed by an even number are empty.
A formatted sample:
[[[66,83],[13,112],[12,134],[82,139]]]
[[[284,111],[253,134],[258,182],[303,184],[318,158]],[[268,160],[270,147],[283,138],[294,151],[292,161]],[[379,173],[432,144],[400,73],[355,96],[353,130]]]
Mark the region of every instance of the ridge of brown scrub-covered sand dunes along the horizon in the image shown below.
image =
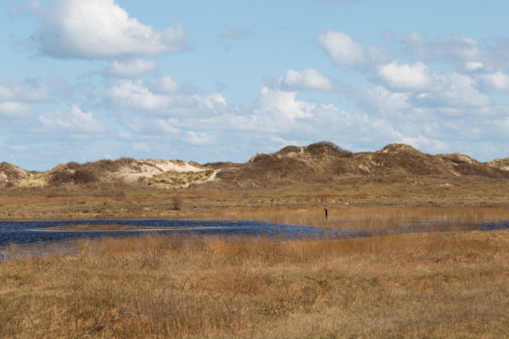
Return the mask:
[[[403,144],[390,144],[376,152],[352,153],[332,142],[320,141],[305,147],[287,146],[272,154],[257,154],[245,164],[217,162],[200,165],[182,160],[121,158],[85,164],[70,162],[59,164],[44,173],[32,173],[2,163],[0,188],[99,182],[140,182],[165,188],[182,187],[207,181],[212,171],[218,171],[218,178],[227,181],[227,184],[240,182],[243,186],[258,187],[402,175],[507,179],[507,159],[483,164],[459,153],[429,155]],[[199,175],[192,179],[197,173]],[[38,179],[34,180],[36,176]]]

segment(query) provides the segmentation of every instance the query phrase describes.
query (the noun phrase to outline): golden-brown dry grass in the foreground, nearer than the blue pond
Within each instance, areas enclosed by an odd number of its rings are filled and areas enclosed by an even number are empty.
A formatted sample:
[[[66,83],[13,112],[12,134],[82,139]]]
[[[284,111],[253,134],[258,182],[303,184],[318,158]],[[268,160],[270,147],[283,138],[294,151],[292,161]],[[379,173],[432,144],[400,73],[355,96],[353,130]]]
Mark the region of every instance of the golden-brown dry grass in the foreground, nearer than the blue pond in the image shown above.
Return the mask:
[[[509,231],[145,235],[0,261],[0,337],[507,337]]]

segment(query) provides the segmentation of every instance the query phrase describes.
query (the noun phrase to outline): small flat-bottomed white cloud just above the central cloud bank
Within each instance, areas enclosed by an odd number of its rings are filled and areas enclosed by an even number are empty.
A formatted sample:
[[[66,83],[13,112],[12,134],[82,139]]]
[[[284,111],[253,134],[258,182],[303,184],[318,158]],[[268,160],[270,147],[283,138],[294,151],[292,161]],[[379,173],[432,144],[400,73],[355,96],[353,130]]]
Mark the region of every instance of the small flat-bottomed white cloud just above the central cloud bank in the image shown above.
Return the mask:
[[[280,78],[279,82],[295,89],[316,89],[327,92],[334,90],[334,84],[330,78],[313,68],[306,68],[302,71],[288,70],[285,72],[285,77]]]

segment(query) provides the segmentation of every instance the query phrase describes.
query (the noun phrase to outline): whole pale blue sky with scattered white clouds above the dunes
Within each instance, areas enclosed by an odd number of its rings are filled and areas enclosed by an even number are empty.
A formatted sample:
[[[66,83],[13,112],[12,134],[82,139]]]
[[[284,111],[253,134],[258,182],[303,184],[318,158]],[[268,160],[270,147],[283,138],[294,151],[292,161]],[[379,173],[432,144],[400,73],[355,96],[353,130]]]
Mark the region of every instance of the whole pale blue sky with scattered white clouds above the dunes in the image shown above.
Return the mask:
[[[509,2],[3,0],[0,162],[509,157]]]

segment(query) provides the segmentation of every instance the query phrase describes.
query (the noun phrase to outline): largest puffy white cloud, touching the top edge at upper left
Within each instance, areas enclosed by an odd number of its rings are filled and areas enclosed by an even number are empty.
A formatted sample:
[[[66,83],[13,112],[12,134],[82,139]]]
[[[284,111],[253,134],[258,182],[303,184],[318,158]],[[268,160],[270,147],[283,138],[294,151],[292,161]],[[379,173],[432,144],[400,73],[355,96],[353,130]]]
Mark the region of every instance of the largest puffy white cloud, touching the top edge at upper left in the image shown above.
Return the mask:
[[[34,39],[42,53],[58,58],[153,56],[186,49],[180,24],[155,32],[114,0],[55,0]]]

